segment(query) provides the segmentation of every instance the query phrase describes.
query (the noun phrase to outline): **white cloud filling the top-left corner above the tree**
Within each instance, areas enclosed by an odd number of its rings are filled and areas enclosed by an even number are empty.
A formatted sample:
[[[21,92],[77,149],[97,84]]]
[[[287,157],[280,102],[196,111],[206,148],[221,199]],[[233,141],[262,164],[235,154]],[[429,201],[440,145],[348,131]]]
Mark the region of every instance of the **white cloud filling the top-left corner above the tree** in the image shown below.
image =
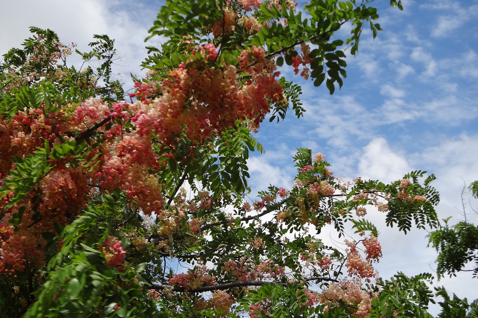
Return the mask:
[[[144,39],[156,12],[141,8],[141,5],[129,10],[126,4],[126,1],[106,0],[3,1],[4,12],[22,12],[22,19],[16,14],[2,16],[0,54],[11,47],[20,47],[23,39],[31,36],[28,28],[32,25],[56,31],[63,43],[77,42],[80,51],[90,50],[87,44],[93,41],[93,34],[108,34],[115,39],[115,47],[124,56],[122,61],[117,61],[119,65],[114,66],[114,72],[125,74],[121,80],[130,83],[130,72],[142,76],[139,65],[147,56]],[[149,44],[158,43],[159,39],[152,39]],[[81,65],[80,58],[75,55],[70,62]]]

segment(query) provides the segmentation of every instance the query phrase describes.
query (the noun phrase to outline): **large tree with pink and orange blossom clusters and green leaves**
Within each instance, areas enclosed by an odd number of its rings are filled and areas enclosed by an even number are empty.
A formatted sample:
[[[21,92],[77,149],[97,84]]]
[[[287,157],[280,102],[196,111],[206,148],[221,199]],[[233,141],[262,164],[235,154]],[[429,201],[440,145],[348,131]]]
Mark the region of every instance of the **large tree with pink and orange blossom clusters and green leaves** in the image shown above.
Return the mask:
[[[375,205],[404,233],[436,227],[433,174],[341,179],[299,148],[290,190],[247,196],[249,152],[262,151],[250,133],[269,113],[304,112],[277,67],[332,94],[347,65],[334,32],[353,25],[355,54],[365,23],[381,30],[366,4],[169,1],[150,30],[166,41],[149,47],[130,103],[107,36],[76,51],[100,66],[76,70],[75,43],[32,28],[0,66],[0,315],[430,316],[431,275],[378,279],[379,233],[363,216]],[[357,237],[326,246],[327,224]]]

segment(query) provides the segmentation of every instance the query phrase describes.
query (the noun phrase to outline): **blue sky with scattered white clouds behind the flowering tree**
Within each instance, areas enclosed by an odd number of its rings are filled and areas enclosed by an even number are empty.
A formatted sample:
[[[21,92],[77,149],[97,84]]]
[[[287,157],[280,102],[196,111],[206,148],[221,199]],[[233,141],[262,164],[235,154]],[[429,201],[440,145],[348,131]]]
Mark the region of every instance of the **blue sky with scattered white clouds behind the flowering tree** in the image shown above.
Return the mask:
[[[124,54],[117,72],[141,74],[146,56],[143,39],[161,1],[43,0],[6,1],[0,20],[0,51],[18,46],[30,25],[57,31],[62,41],[76,41],[86,51],[92,34],[109,34]],[[289,80],[303,87],[304,118],[291,112],[285,121],[263,123],[257,139],[266,152],[250,159],[254,191],[269,183],[290,187],[295,175],[291,156],[298,147],[326,154],[334,174],[392,181],[412,170],[435,173],[442,201],[440,217],[463,217],[463,184],[478,179],[478,15],[477,0],[402,0],[403,11],[389,1],[378,8],[380,31],[375,40],[365,31],[359,53],[347,57],[348,78],[330,96],[283,67]],[[5,14],[5,13],[4,13]],[[473,18],[475,17],[475,18]],[[346,37],[350,28],[337,36]],[[158,45],[160,39],[148,44]],[[468,201],[472,221],[477,215]],[[425,231],[407,236],[383,226],[383,215],[368,215],[379,226],[384,259],[377,266],[388,278],[397,270],[407,275],[433,272],[435,252],[426,248]],[[323,233],[329,233],[323,231]],[[330,237],[333,233],[330,232]],[[325,237],[324,240],[327,238]],[[444,279],[460,297],[478,298],[471,274]],[[436,310],[436,309],[433,309]]]

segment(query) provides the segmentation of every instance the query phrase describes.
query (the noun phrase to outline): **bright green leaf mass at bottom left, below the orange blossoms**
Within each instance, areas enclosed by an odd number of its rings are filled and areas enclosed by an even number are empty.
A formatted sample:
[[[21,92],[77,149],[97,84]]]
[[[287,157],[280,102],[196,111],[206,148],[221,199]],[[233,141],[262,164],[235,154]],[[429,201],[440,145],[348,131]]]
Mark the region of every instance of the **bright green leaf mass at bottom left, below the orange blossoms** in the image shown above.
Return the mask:
[[[107,235],[124,236],[111,224],[111,215],[122,208],[119,189],[103,195],[103,206],[89,209],[61,233],[63,247],[45,268],[46,281],[33,294],[25,318],[88,317],[157,317],[155,302],[147,296],[138,273],[145,264],[123,270],[109,267],[99,251]],[[145,282],[143,282],[144,284]]]

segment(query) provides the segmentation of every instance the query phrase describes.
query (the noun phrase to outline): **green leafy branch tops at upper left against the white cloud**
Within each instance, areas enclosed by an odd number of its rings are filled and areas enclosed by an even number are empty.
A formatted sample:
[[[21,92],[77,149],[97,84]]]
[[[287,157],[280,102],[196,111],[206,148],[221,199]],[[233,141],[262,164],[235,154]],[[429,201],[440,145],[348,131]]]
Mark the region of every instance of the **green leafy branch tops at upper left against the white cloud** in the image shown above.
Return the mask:
[[[89,43],[92,51],[75,51],[85,63],[100,65],[96,69],[87,66],[76,70],[66,64],[71,48],[60,46],[54,31],[37,27],[30,31],[34,35],[22,43],[23,48],[12,48],[0,63],[0,113],[6,114],[7,119],[18,109],[38,108],[42,102],[46,111],[52,113],[54,107],[61,105],[59,101],[75,103],[92,96],[111,102],[123,99],[122,85],[112,79],[111,73],[112,63],[120,58],[113,47],[114,40],[107,35],[94,35],[98,41]],[[50,60],[51,56],[58,56],[58,60]],[[99,81],[105,85],[97,86]]]

